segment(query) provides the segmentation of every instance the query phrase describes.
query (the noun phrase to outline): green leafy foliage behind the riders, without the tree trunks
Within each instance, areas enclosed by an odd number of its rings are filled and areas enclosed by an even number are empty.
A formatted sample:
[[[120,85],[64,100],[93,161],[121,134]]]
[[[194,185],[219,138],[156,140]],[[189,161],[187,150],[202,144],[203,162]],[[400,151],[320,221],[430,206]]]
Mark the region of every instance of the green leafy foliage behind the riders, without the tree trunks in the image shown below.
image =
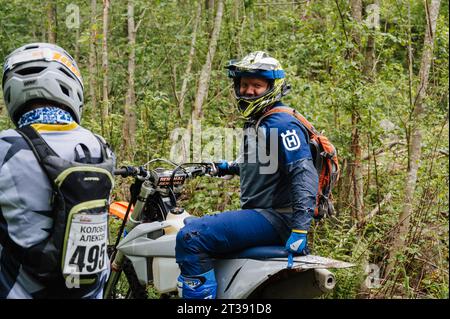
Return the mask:
[[[94,74],[101,102],[101,1],[97,1],[97,71]],[[425,100],[426,114],[419,123],[411,121],[411,95],[417,94],[425,31],[422,1],[381,1],[380,28],[369,29],[351,19],[346,1],[310,1],[308,5],[270,5],[267,1],[225,1],[224,20],[212,61],[208,98],[203,105],[202,127],[242,126],[233,104],[230,81],[224,66],[227,60],[254,50],[266,50],[283,65],[292,90],[286,104],[299,110],[323,131],[338,149],[340,163],[348,163],[351,151],[352,114],[360,121],[360,144],[364,176],[365,213],[378,208],[390,194],[391,199],[364,225],[357,225],[351,207],[337,202],[338,221],[314,225],[311,247],[314,254],[352,262],[356,267],[336,271],[336,289],[327,298],[448,298],[448,1],[441,4],[435,33],[435,50]],[[65,23],[65,8],[80,9],[79,35]],[[261,5],[262,4],[262,5]],[[342,17],[339,14],[342,13]],[[367,5],[367,2],[364,2]],[[187,128],[198,87],[198,76],[208,52],[212,21],[203,8],[197,33],[192,71],[188,75],[184,116],[178,112],[177,98],[189,60],[194,1],[135,0],[136,38],[136,146],[133,164],[151,158],[169,157],[171,132]],[[103,134],[122,165],[123,109],[128,88],[126,2],[112,1],[108,33],[110,66],[110,116],[102,132],[100,109],[92,108],[89,92],[90,3],[58,0],[58,44],[72,55],[79,50],[78,62],[85,80],[86,105],[82,124]],[[0,0],[0,60],[13,49],[31,41],[44,41],[46,21],[44,3]],[[366,18],[364,11],[363,19]],[[361,43],[352,41],[358,32]],[[375,41],[376,68],[363,72],[369,37]],[[411,39],[411,42],[410,40]],[[413,52],[410,79],[408,44]],[[360,50],[359,50],[360,49]],[[0,99],[0,129],[11,127]],[[100,107],[100,103],[99,106]],[[378,265],[381,275],[386,267],[398,217],[403,210],[411,125],[420,125],[422,158],[413,203],[412,227],[408,247],[399,254],[398,269],[381,288],[367,289],[365,267]],[[398,141],[392,148],[387,145]],[[202,141],[205,146],[207,141]],[[191,145],[192,147],[192,145]],[[380,151],[381,150],[381,151]],[[373,153],[380,151],[373,158]],[[369,156],[371,155],[371,156]],[[340,183],[348,176],[343,171]],[[343,184],[340,184],[343,185]],[[114,197],[125,199],[125,181],[118,181]],[[338,188],[342,192],[345,190]],[[338,200],[342,200],[335,194]],[[348,200],[348,199],[345,199]],[[203,215],[239,208],[239,181],[197,179],[191,181],[181,198],[191,214]],[[347,205],[347,206],[346,206]],[[151,288],[149,288],[151,289]],[[150,294],[153,292],[150,291]]]

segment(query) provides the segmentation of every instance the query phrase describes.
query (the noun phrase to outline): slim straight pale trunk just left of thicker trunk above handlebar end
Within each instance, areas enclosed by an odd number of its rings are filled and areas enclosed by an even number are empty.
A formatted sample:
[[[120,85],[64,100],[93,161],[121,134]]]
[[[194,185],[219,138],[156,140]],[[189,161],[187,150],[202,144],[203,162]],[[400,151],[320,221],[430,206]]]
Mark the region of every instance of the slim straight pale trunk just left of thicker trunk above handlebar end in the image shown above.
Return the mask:
[[[106,132],[106,121],[109,116],[108,18],[109,18],[109,0],[103,0],[103,39],[102,39],[103,102],[102,102],[102,116],[101,116],[103,135]]]

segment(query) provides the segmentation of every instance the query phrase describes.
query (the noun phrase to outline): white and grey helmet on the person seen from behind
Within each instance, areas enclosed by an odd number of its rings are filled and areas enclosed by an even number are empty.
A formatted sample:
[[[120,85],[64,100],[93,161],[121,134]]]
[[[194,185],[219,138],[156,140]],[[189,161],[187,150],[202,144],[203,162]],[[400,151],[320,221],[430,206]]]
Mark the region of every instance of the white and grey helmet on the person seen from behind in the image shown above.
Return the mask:
[[[31,43],[13,51],[3,66],[3,98],[14,123],[32,101],[66,106],[80,123],[83,80],[75,60],[61,47]]]

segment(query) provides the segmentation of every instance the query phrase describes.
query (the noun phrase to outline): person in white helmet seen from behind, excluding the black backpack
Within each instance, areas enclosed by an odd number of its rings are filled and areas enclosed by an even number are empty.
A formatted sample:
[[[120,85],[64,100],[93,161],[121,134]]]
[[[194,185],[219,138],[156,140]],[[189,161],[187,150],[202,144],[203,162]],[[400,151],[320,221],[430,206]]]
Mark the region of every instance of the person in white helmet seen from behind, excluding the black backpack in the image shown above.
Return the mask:
[[[90,163],[83,162],[87,154],[94,162],[102,160],[104,140],[80,126],[83,82],[64,49],[48,43],[24,45],[6,57],[3,70],[4,102],[17,128],[31,126],[67,161]],[[43,283],[24,262],[24,251],[53,230],[52,198],[52,185],[25,139],[16,130],[2,131],[0,299],[101,298],[108,268],[95,284],[79,288],[76,282],[72,287]]]

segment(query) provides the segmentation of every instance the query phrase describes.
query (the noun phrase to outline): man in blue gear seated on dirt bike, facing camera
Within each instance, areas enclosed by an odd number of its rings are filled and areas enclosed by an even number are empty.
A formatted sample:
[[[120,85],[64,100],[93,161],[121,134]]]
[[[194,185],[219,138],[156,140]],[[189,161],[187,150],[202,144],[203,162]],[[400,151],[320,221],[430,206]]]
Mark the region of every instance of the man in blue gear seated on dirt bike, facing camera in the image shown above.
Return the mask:
[[[318,189],[308,133],[286,113],[258,122],[270,109],[283,106],[281,98],[289,91],[285,73],[278,60],[262,51],[232,60],[227,68],[246,123],[239,158],[223,161],[218,176],[240,176],[242,209],[189,219],[177,234],[178,288],[187,299],[216,297],[215,255],[265,245],[308,254]],[[263,161],[267,149],[275,169]]]

